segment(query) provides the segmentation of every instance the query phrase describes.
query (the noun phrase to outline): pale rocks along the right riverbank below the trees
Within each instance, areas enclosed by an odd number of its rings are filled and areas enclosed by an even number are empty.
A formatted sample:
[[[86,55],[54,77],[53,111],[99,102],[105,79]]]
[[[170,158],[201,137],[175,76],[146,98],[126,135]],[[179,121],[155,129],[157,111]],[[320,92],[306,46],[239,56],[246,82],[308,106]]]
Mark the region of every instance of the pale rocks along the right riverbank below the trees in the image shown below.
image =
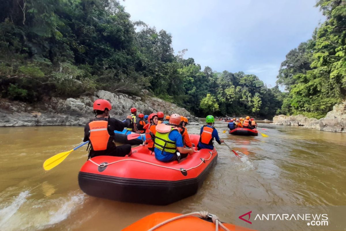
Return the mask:
[[[346,101],[336,104],[325,118],[278,115],[273,118],[273,124],[304,126],[327,132],[346,132]]]

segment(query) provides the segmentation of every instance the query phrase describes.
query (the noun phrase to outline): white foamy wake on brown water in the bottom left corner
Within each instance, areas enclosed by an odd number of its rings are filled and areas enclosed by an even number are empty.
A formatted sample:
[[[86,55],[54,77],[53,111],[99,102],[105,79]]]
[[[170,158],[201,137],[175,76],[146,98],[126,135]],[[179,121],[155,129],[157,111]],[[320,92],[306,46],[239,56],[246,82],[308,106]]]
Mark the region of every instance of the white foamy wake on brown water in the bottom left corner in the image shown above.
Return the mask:
[[[53,199],[34,199],[30,196],[30,190],[26,190],[19,193],[10,204],[0,204],[1,231],[49,228],[67,219],[85,199],[84,194],[76,192]]]

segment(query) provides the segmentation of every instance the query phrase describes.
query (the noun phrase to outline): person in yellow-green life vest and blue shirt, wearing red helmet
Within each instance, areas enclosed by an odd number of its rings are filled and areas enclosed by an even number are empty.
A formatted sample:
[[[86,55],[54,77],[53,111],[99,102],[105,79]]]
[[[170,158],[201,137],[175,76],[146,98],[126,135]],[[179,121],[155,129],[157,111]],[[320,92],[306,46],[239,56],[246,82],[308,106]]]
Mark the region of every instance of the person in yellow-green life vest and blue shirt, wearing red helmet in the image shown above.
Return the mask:
[[[181,134],[178,130],[180,115],[172,114],[168,124],[158,124],[155,135],[155,158],[162,162],[180,160],[192,155],[193,149],[184,148]]]

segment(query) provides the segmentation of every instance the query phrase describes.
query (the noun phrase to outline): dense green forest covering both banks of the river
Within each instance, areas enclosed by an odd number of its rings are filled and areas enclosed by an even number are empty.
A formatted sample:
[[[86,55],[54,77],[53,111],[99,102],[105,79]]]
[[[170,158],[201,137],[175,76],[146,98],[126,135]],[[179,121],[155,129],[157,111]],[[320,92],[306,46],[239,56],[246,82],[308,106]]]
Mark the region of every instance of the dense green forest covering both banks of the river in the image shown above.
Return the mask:
[[[174,55],[170,33],[131,21],[116,0],[1,1],[0,97],[35,103],[146,89],[196,116],[320,118],[346,95],[345,3],[317,2],[327,19],[286,55],[281,92],[253,74],[202,70],[187,49]]]

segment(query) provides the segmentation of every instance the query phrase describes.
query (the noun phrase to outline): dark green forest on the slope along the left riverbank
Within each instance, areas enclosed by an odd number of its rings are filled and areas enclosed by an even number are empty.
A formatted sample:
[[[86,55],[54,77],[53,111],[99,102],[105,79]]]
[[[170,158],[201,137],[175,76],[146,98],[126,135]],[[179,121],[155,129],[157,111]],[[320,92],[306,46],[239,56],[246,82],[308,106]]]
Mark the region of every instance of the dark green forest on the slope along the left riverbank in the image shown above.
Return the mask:
[[[278,88],[268,89],[243,72],[216,73],[208,66],[201,70],[193,58],[184,59],[186,51],[174,56],[171,34],[131,21],[118,1],[0,3],[1,97],[34,102],[98,89],[133,95],[147,89],[198,116],[270,117],[281,108]],[[343,51],[335,56],[344,57]],[[318,57],[322,62],[324,54]],[[335,63],[333,79],[342,78],[343,68],[344,63]]]

